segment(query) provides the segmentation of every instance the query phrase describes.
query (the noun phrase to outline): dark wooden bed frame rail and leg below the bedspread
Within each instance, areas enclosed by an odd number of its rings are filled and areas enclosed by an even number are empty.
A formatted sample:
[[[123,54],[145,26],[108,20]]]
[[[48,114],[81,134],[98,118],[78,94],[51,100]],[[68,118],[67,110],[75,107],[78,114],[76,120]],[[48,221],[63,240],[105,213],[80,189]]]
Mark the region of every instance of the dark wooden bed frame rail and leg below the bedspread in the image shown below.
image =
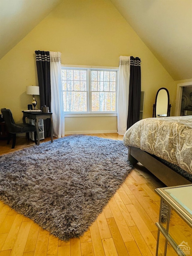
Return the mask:
[[[149,155],[147,152],[139,148],[131,146],[128,147],[128,160],[132,164],[136,164],[137,162],[143,164],[144,167],[146,167],[168,187],[191,184],[189,180],[185,179],[179,173],[176,173],[156,158],[152,157],[152,155]]]

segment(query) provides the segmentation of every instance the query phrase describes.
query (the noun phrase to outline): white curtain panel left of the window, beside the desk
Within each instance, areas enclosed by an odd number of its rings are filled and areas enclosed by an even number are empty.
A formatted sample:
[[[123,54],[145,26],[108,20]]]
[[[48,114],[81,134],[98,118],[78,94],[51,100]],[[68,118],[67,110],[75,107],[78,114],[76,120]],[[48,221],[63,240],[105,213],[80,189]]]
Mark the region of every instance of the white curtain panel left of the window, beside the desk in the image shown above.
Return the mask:
[[[61,53],[50,53],[51,112],[53,118],[53,136],[64,137],[63,92],[61,83]]]

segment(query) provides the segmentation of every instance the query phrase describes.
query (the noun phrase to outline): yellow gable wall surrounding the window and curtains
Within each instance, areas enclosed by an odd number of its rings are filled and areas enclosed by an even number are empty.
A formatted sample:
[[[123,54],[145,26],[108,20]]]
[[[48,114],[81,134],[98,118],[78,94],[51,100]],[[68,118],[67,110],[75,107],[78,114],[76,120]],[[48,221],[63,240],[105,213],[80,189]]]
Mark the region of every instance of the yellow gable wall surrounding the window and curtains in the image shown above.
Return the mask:
[[[10,108],[17,122],[22,121],[21,111],[32,101],[26,86],[38,85],[35,50],[60,51],[62,64],[70,65],[116,67],[121,55],[139,56],[144,118],[152,116],[160,87],[169,90],[170,103],[175,104],[173,79],[110,1],[63,1],[0,60],[0,107]],[[39,96],[36,99],[39,103]],[[66,132],[113,131],[116,126],[116,117],[65,118]]]

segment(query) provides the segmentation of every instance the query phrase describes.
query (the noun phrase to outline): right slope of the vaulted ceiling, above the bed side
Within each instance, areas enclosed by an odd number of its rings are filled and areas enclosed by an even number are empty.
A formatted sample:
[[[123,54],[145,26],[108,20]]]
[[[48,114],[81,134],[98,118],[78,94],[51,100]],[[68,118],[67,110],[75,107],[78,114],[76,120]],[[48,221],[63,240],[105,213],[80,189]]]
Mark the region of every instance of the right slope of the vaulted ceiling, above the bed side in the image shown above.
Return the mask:
[[[192,78],[191,0],[111,0],[174,80]]]

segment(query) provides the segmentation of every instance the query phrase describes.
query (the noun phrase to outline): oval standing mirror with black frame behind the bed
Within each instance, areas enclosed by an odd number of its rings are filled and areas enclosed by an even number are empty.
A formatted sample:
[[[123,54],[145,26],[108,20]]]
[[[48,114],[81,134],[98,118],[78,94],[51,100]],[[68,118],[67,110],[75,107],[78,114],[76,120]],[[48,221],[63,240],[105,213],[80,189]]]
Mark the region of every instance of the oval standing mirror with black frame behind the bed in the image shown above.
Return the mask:
[[[167,88],[160,88],[153,104],[153,117],[170,116],[171,104],[169,104],[169,91]]]

